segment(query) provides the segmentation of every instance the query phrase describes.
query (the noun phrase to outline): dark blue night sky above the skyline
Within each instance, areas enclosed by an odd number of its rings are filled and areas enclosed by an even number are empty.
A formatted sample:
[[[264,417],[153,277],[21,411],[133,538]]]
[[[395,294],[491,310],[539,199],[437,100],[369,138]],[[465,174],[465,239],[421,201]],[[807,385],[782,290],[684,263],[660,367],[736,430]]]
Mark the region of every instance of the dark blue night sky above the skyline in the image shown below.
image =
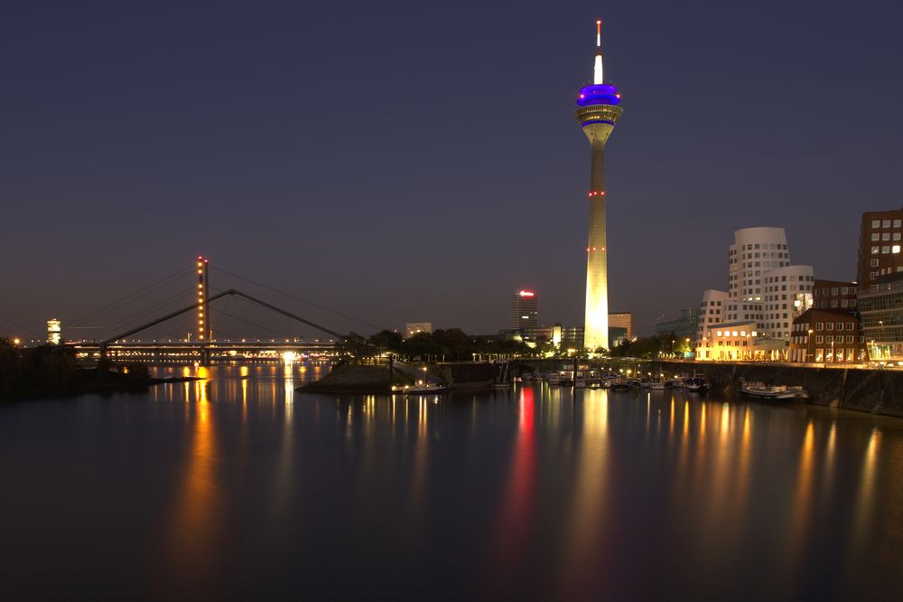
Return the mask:
[[[597,15],[625,108],[612,310],[644,334],[724,289],[749,226],[853,279],[861,212],[903,205],[894,3],[22,2],[0,19],[0,334],[201,253],[373,325],[494,333],[519,287],[582,325]]]

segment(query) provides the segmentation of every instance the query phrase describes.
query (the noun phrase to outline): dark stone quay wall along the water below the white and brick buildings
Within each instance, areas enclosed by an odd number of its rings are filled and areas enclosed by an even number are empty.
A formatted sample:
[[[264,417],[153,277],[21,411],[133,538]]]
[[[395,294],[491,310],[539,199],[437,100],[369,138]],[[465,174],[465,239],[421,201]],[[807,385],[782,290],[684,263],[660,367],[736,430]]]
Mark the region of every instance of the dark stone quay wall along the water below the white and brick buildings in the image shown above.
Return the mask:
[[[712,390],[734,394],[740,379],[798,385],[809,403],[903,417],[903,372],[861,368],[814,368],[780,363],[652,362],[653,372],[703,374]]]

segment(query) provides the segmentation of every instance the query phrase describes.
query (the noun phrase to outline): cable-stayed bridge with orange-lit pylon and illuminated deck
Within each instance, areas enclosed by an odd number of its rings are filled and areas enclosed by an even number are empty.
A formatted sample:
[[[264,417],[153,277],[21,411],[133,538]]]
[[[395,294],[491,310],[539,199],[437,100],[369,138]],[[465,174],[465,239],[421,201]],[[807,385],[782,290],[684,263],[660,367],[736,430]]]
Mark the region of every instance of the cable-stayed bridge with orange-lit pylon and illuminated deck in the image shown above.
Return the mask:
[[[211,287],[211,269],[224,279],[241,281],[242,289]],[[191,282],[188,290],[186,279]],[[246,287],[253,294],[244,290]],[[255,280],[211,268],[202,257],[194,268],[163,277],[63,328],[66,344],[82,361],[206,364],[334,351],[345,334],[323,325],[322,317],[314,321],[311,315],[329,315],[326,319],[332,324],[352,322],[370,330],[381,329]]]

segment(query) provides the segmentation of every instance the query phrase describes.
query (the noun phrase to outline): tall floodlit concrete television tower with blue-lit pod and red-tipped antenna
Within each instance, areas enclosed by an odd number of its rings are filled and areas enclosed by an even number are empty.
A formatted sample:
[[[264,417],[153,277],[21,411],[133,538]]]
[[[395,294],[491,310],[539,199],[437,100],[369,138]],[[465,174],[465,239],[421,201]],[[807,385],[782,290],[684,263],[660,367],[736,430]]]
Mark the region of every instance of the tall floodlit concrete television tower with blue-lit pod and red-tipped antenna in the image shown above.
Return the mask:
[[[602,72],[602,22],[596,22],[596,58],[592,83],[580,89],[574,113],[590,141],[590,228],[586,245],[586,306],[583,346],[609,345],[608,242],[605,223],[605,143],[621,116],[618,89]]]

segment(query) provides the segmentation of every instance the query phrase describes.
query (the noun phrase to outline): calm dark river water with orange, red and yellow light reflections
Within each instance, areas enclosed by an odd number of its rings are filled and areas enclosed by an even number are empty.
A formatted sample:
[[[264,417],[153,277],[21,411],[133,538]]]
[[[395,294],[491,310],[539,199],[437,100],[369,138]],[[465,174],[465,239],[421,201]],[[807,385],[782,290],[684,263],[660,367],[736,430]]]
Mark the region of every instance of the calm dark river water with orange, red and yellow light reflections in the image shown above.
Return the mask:
[[[294,388],[328,366],[198,370],[0,407],[0,597],[903,593],[903,419],[545,383],[312,395]]]

